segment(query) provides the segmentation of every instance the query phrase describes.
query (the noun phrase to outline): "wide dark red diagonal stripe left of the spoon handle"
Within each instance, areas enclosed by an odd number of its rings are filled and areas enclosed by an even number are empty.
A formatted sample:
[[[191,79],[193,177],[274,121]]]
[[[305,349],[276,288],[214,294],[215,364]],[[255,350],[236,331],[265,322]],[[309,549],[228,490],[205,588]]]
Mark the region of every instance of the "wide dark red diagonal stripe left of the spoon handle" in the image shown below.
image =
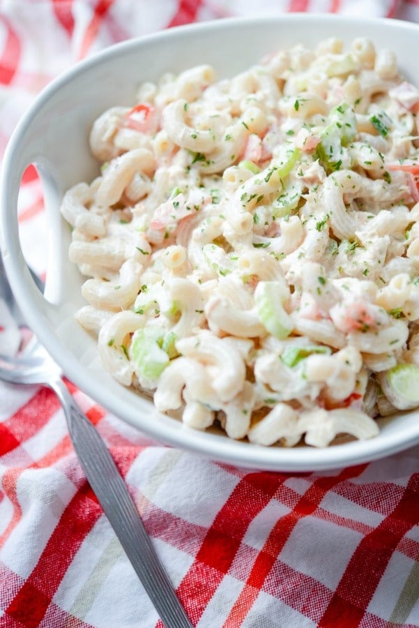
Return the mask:
[[[70,563],[101,514],[89,484],[84,482],[63,512],[35,569],[6,608],[8,617],[25,627],[39,625]]]

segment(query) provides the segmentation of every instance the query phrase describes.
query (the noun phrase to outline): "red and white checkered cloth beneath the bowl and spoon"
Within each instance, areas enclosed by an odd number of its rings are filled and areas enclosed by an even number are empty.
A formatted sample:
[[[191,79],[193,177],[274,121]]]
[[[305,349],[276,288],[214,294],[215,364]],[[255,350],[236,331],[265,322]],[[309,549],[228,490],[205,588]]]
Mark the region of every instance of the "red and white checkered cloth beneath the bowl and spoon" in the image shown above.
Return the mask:
[[[33,97],[78,59],[165,27],[264,10],[419,22],[419,0],[3,0],[1,153]],[[42,209],[29,169],[20,225],[40,273]],[[15,343],[0,306],[0,349]],[[419,626],[419,447],[335,472],[249,472],[162,447],[68,385],[105,438],[194,625]],[[0,384],[0,482],[0,627],[159,624],[49,389]]]

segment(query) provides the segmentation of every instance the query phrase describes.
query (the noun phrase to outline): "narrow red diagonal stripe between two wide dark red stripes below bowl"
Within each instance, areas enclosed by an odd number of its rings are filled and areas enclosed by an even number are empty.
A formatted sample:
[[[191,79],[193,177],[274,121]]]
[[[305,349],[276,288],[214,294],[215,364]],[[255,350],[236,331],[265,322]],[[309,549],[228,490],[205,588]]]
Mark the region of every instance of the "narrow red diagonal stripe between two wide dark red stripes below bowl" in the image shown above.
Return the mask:
[[[245,587],[238,596],[236,603],[231,608],[229,616],[224,623],[224,628],[234,628],[240,626],[245,619],[247,613],[259,595],[259,590],[264,585],[266,576],[270,573],[277,556],[282,551],[291,532],[296,527],[301,518],[314,513],[319,507],[321,500],[328,491],[334,486],[350,477],[356,477],[363,472],[366,465],[358,465],[357,467],[347,468],[339,474],[330,477],[321,477],[313,482],[310,488],[300,497],[294,509],[288,514],[281,517],[273,526],[264,547],[259,552],[257,559],[247,578]]]

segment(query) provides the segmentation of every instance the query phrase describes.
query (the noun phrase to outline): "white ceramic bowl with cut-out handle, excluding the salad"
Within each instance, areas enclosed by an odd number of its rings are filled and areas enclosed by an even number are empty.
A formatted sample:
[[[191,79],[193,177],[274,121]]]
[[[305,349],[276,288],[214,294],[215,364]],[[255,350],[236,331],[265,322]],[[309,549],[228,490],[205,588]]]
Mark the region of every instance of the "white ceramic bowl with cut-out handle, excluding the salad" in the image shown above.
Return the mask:
[[[112,105],[130,105],[142,80],[211,63],[220,77],[238,73],[264,54],[330,36],[346,43],[358,36],[397,53],[403,73],[419,84],[419,27],[393,20],[357,20],[332,15],[287,15],[220,20],[163,31],[116,45],[79,63],[43,91],[20,122],[3,160],[1,252],[22,311],[63,372],[86,394],[155,439],[247,468],[288,472],[342,468],[402,451],[419,442],[418,412],[381,421],[372,440],[326,449],[259,447],[221,433],[185,428],[158,414],[153,404],[112,380],[100,366],[96,341],[74,320],[82,305],[82,279],[68,262],[69,230],[59,214],[63,192],[93,179],[98,164],[87,144],[93,120]],[[17,227],[17,193],[26,166],[34,163],[43,179],[49,247],[45,297],[36,290],[24,263]]]

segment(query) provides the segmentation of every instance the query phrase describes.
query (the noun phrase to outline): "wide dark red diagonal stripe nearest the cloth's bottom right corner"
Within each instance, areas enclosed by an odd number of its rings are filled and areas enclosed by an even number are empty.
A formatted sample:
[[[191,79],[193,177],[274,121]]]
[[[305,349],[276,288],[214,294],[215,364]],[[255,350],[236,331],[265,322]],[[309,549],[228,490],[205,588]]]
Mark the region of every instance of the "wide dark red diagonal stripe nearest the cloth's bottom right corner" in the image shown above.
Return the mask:
[[[400,539],[419,523],[419,473],[413,474],[396,507],[358,545],[319,627],[359,625]],[[362,586],[360,586],[362,583]]]

